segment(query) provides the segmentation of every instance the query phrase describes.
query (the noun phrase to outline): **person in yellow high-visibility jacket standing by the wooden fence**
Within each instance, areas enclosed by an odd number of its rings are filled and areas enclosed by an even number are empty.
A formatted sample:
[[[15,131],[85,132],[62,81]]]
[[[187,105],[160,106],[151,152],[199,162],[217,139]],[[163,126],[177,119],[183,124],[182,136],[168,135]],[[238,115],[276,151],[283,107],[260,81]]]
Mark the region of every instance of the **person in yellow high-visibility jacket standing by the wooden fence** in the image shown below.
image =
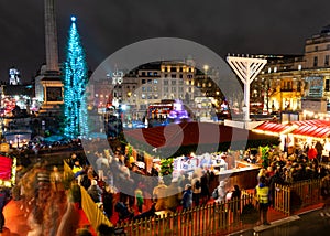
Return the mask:
[[[261,176],[255,187],[256,201],[258,202],[260,222],[263,225],[271,225],[267,221],[270,206],[270,187],[266,185],[265,176]]]

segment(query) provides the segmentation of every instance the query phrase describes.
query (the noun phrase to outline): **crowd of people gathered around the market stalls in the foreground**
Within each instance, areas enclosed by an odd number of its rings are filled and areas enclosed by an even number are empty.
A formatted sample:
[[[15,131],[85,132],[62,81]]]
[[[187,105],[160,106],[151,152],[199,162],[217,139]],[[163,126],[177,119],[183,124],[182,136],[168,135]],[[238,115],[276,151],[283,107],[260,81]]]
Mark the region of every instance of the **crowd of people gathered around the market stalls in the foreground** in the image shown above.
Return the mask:
[[[257,160],[257,158],[255,159]],[[120,148],[114,149],[111,153],[105,150],[96,151],[91,159],[74,152],[67,159],[67,163],[75,178],[70,189],[73,199],[78,203],[78,208],[81,207],[79,205],[81,195],[78,190],[84,186],[91,200],[114,225],[125,219],[155,216],[160,211],[188,211],[194,206],[207,204],[210,200],[221,203],[241,197],[240,186],[228,186],[226,181],[220,181],[219,186],[211,191],[210,183],[217,176],[208,167],[197,168],[189,174],[180,172],[168,181],[168,176],[158,176],[160,170],[155,167],[147,172],[145,168],[138,164],[135,159],[125,155]],[[287,155],[278,149],[270,149],[268,165],[260,170],[257,181],[260,187],[268,187],[268,206],[274,201],[275,183],[292,184],[310,179],[323,180],[327,175],[329,176],[327,165],[320,164],[318,155],[310,158],[308,150],[296,150],[295,153]],[[31,185],[33,178],[40,180],[36,186]],[[29,210],[26,213],[33,212],[30,207],[33,203],[37,203],[38,211],[42,210],[43,204],[48,206],[47,203],[43,203],[45,199],[42,196],[44,195],[35,195],[35,192],[47,192],[45,196],[55,197],[65,205],[64,194],[55,196],[55,193],[65,191],[62,181],[63,175],[57,167],[46,174],[43,164],[33,168],[28,175],[22,178],[21,199],[24,200],[24,208]],[[45,182],[50,185],[45,185]],[[324,196],[330,195],[327,184],[330,186],[329,181],[323,183]],[[42,222],[38,218],[41,217],[38,211],[34,211],[34,221],[38,223],[37,225]],[[263,215],[266,214],[266,211],[264,212]],[[55,213],[50,211],[47,214]],[[33,224],[36,224],[35,222]],[[267,219],[262,219],[262,222],[267,224]]]

